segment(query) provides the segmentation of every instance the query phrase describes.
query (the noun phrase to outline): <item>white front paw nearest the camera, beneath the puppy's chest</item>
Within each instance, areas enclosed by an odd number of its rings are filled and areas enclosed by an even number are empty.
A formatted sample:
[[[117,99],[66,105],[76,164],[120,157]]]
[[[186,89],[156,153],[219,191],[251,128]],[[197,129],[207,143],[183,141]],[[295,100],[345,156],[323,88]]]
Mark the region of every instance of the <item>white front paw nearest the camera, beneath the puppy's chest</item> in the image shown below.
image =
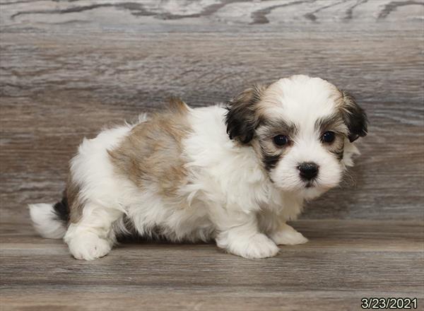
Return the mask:
[[[232,241],[228,252],[249,259],[259,259],[275,256],[278,246],[264,234],[257,233],[252,237],[240,237]]]

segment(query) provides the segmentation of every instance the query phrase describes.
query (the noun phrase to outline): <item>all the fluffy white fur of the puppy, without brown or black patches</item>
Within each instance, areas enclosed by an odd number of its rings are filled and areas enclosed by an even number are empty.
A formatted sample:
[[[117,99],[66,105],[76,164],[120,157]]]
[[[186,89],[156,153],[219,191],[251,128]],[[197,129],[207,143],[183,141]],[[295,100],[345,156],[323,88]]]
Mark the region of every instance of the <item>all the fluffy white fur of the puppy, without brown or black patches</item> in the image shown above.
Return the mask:
[[[305,83],[310,83],[307,92]],[[115,174],[107,150],[134,127],[125,124],[84,139],[71,160],[71,175],[85,202],[81,220],[65,228],[54,221],[52,205],[33,204],[30,215],[36,230],[43,237],[64,237],[71,254],[86,260],[110,252],[116,235],[126,232],[124,215],[141,235],[151,235],[155,225],[161,225],[170,240],[214,239],[223,250],[246,258],[272,257],[277,245],[307,242],[285,222],[298,216],[305,199],[338,184],[357,149],[346,138],[343,160],[336,160],[317,139],[315,120],[335,110],[328,83],[298,76],[274,84],[273,100],[281,105],[270,108],[269,114],[299,124],[299,134],[271,172],[264,170],[252,146],[228,137],[224,107],[190,109],[192,131],[183,141],[190,182],[179,188],[179,200],[170,201],[154,184],[139,189]],[[305,161],[323,168],[315,187],[306,188],[298,176],[296,165]]]

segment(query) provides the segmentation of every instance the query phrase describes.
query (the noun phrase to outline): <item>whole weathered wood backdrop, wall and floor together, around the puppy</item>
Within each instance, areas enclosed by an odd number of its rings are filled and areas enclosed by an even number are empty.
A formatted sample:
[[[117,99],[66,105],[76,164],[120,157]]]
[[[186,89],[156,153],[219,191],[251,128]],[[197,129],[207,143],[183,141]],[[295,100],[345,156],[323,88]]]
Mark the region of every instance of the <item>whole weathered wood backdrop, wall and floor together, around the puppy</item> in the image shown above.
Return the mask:
[[[424,1],[0,0],[0,310],[424,310]],[[179,95],[228,100],[291,74],[329,79],[370,117],[343,185],[248,260],[126,241],[94,262],[37,237],[83,136]]]

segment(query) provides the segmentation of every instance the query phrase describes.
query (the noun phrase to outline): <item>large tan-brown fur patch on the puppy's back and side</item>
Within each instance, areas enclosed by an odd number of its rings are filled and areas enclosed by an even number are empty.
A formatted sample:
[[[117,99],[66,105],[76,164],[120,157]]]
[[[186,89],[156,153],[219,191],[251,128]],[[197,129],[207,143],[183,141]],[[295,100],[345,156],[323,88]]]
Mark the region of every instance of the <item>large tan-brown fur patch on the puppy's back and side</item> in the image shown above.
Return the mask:
[[[119,175],[143,189],[154,184],[162,196],[178,196],[187,183],[182,139],[189,134],[189,107],[172,98],[170,107],[137,124],[117,148],[108,151]]]

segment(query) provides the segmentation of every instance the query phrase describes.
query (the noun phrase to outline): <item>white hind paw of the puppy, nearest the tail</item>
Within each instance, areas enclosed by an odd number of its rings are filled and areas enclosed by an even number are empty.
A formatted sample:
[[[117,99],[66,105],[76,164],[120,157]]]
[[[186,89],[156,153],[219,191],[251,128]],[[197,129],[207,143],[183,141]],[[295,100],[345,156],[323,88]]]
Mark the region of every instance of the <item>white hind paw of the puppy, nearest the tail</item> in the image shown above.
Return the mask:
[[[73,237],[69,250],[76,259],[93,260],[105,256],[112,249],[112,243],[94,233]]]

